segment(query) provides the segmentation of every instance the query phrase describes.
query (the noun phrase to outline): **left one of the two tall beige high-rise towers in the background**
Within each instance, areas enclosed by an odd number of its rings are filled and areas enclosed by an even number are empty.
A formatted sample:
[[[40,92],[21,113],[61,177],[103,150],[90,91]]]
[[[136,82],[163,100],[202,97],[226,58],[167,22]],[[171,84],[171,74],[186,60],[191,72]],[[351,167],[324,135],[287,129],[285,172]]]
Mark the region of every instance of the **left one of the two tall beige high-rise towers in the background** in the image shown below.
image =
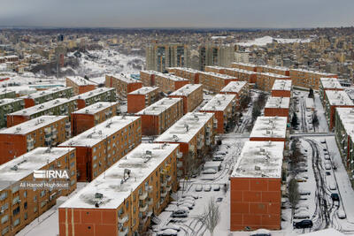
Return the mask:
[[[146,47],[146,69],[165,72],[167,67],[189,67],[190,49],[181,43],[152,43]]]

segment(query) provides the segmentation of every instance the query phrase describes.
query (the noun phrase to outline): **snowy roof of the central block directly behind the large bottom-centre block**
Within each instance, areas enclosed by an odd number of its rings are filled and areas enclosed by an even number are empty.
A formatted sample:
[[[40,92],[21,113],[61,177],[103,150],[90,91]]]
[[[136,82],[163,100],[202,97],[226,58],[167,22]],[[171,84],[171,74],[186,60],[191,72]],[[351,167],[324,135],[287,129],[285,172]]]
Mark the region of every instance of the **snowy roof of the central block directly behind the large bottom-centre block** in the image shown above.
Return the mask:
[[[172,141],[188,143],[205,124],[213,118],[209,112],[189,112],[173,124],[155,141]]]

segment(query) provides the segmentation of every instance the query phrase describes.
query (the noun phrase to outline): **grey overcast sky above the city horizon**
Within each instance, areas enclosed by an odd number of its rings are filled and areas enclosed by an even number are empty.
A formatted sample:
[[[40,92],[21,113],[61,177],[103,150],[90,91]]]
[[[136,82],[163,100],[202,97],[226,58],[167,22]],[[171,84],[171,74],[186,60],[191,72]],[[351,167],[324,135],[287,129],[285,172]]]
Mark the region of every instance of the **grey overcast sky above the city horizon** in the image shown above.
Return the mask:
[[[354,0],[0,0],[4,27],[349,27]]]

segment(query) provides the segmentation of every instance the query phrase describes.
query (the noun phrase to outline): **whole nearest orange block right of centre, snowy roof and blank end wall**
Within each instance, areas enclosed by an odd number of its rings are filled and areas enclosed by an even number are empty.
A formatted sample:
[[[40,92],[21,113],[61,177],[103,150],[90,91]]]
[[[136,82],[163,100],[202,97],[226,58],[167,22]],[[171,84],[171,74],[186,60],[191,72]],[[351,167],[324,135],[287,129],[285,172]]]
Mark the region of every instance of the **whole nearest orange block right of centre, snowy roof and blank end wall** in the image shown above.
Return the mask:
[[[230,176],[230,231],[281,229],[282,141],[246,141]]]

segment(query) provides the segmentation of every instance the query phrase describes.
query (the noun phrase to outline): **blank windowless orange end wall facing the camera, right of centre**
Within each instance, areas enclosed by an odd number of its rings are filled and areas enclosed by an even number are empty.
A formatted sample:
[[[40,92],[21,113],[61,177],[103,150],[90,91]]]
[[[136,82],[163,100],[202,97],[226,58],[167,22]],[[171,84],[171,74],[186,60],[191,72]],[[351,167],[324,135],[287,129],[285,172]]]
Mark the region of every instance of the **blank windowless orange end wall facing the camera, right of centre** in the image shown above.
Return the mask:
[[[281,229],[281,179],[230,178],[230,231]]]

